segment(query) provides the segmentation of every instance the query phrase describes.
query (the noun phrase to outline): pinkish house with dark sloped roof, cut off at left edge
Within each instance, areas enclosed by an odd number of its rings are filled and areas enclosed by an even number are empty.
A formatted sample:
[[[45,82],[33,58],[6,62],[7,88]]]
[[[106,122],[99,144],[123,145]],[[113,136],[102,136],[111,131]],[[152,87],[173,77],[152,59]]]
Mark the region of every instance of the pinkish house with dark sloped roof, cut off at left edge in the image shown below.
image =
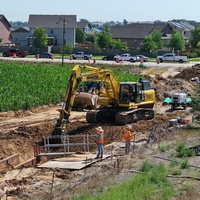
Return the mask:
[[[12,43],[10,28],[10,22],[4,15],[0,14],[0,38],[2,39],[1,44],[7,45]]]

